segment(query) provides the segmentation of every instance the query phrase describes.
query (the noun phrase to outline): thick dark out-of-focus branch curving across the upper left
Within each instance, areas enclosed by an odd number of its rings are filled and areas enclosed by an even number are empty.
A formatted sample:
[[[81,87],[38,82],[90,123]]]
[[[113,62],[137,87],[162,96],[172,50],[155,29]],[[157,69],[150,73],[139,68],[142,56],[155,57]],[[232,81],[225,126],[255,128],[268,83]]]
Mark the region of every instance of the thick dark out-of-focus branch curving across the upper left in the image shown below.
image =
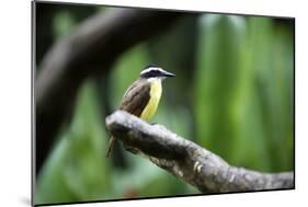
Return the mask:
[[[192,14],[136,9],[99,13],[46,54],[35,81],[36,173],[85,78],[107,70],[123,51],[167,30],[181,15]]]

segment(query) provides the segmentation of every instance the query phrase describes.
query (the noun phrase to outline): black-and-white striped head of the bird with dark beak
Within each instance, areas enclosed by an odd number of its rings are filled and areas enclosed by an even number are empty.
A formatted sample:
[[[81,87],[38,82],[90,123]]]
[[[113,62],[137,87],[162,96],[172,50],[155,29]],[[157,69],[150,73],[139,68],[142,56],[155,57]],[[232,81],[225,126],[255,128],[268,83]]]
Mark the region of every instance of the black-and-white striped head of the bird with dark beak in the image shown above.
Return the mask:
[[[163,70],[158,66],[147,66],[141,72],[140,78],[147,79],[148,81],[151,80],[163,80],[166,78],[175,77],[175,74]]]

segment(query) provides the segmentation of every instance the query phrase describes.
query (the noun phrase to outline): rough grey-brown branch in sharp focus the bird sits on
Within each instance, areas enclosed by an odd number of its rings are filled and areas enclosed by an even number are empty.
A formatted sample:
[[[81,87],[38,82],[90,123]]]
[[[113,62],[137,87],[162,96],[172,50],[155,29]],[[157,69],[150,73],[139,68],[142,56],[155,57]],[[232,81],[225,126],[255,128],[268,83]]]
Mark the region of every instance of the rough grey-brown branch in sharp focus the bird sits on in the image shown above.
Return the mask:
[[[133,148],[203,193],[294,188],[294,172],[262,173],[231,166],[163,126],[149,125],[126,112],[106,117],[106,128],[127,149]]]

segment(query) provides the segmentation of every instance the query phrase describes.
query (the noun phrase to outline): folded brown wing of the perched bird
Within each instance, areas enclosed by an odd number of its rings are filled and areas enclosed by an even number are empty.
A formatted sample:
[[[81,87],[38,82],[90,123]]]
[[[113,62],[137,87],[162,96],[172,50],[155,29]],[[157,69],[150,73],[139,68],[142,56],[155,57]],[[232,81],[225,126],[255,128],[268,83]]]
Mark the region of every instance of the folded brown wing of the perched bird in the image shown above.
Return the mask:
[[[124,110],[135,116],[140,116],[150,99],[150,83],[139,79],[135,81],[123,96],[119,110]]]

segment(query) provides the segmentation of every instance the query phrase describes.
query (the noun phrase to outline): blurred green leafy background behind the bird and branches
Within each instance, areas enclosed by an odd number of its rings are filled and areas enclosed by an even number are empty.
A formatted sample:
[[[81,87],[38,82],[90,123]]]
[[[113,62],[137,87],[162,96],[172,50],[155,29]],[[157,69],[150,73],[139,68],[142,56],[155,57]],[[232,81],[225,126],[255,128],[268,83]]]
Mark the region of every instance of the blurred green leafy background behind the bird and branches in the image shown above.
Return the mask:
[[[41,3],[37,70],[53,43],[106,10]],[[148,64],[176,74],[163,82],[153,123],[230,164],[294,170],[294,20],[195,13],[127,50],[109,73],[84,82],[72,119],[37,177],[36,204],[199,193],[122,147],[105,158],[104,118]]]

